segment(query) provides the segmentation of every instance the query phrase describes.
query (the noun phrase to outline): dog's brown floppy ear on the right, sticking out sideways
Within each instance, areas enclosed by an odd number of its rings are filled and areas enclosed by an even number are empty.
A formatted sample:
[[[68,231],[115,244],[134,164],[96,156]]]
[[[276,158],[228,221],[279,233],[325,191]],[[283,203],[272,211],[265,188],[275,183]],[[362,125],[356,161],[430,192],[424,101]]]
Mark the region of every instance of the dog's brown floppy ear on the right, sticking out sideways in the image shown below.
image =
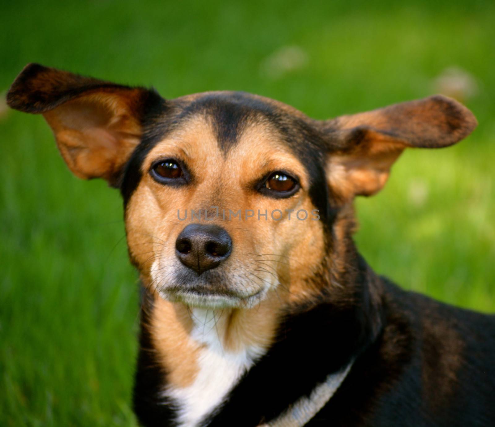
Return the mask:
[[[381,190],[406,147],[441,148],[468,136],[474,115],[443,95],[320,122],[330,137],[330,186],[343,201]]]

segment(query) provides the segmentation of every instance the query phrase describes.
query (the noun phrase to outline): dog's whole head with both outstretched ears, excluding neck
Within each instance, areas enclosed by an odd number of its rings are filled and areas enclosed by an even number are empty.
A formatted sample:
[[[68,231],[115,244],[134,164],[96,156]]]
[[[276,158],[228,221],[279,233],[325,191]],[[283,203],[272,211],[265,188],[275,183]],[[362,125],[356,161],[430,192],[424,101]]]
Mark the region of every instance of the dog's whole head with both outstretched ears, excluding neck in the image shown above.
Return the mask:
[[[166,100],[37,64],[7,102],[44,115],[76,176],[120,188],[144,283],[203,307],[308,292],[355,195],[380,190],[404,148],[448,146],[476,126],[444,96],[317,121],[261,96]]]

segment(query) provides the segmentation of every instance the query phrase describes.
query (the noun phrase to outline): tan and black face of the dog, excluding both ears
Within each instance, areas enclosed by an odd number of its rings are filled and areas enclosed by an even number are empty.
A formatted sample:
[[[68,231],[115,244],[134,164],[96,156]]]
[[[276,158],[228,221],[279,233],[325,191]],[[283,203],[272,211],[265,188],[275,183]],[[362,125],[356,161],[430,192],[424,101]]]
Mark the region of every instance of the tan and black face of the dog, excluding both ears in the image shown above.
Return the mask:
[[[127,189],[131,257],[167,299],[251,306],[321,262],[323,222],[311,197],[314,186],[325,192],[311,176],[321,165],[291,147],[269,101],[255,101],[186,98],[132,166],[140,179]]]

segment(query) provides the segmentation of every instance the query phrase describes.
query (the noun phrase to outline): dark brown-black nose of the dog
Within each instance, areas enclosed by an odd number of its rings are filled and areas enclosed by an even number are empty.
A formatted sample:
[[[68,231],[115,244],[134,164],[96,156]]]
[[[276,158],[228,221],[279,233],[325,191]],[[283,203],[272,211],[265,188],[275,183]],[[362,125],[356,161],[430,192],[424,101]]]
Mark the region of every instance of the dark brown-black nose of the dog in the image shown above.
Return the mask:
[[[232,239],[217,225],[190,224],[175,242],[177,258],[201,274],[217,267],[232,251]]]

